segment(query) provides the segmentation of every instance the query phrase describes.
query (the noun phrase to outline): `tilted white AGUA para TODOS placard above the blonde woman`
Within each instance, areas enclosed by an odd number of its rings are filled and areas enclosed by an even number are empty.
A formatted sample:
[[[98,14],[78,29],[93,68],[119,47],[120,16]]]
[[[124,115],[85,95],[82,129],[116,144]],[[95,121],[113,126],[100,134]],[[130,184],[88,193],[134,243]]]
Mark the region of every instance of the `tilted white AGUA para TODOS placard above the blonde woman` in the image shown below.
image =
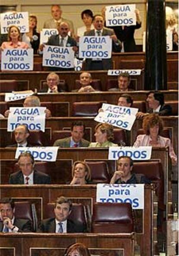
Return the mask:
[[[112,104],[102,104],[104,112],[99,112],[95,117],[95,121],[99,123],[109,123],[118,128],[131,130],[136,119],[135,114],[137,108],[129,108],[124,106],[116,106]]]

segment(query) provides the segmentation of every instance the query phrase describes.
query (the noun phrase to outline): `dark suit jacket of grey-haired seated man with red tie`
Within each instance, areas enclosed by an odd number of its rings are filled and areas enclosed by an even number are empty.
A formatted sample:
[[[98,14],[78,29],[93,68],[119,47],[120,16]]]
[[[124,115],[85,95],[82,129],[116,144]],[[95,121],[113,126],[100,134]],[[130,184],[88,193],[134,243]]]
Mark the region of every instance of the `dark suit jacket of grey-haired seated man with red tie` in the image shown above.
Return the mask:
[[[10,174],[10,184],[24,184],[24,177],[22,171]],[[34,184],[50,184],[51,178],[46,173],[34,170]]]

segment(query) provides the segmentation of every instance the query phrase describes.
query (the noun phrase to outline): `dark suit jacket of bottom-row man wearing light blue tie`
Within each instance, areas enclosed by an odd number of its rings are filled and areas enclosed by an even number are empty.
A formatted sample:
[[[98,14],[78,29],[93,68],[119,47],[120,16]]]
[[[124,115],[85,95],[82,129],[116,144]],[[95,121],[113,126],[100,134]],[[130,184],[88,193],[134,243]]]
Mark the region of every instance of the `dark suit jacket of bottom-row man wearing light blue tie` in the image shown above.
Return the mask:
[[[42,220],[39,228],[39,233],[55,233],[55,219],[44,219]],[[67,233],[83,233],[85,227],[80,223],[74,223],[72,220],[67,219]]]

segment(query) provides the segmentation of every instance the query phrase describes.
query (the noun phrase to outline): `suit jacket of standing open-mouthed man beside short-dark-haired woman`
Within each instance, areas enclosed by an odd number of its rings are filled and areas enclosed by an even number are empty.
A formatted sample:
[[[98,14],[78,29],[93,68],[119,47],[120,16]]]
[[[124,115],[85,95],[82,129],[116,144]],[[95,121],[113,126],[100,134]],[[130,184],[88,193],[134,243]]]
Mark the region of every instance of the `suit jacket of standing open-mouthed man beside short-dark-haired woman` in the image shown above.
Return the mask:
[[[102,30],[102,36],[112,36],[114,35],[114,30],[107,29],[103,27]],[[95,36],[95,30],[86,31],[84,33],[84,36]],[[119,45],[116,45],[115,42],[112,40],[112,51],[113,52],[120,52],[121,51],[121,42],[118,42]],[[86,59],[85,60],[85,70],[91,70],[91,65],[93,64],[92,59]],[[102,66],[103,70],[109,70],[112,69],[112,58],[110,59],[102,59]]]

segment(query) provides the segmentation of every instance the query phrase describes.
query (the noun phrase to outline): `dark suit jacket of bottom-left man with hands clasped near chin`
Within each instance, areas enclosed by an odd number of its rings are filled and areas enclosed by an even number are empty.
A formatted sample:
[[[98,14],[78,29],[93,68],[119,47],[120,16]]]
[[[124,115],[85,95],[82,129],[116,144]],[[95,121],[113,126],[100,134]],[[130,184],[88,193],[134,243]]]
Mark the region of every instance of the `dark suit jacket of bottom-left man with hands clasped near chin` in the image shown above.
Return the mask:
[[[32,232],[32,223],[29,219],[14,219],[14,226],[19,228],[18,232]],[[3,222],[0,221],[0,232],[3,231]]]

